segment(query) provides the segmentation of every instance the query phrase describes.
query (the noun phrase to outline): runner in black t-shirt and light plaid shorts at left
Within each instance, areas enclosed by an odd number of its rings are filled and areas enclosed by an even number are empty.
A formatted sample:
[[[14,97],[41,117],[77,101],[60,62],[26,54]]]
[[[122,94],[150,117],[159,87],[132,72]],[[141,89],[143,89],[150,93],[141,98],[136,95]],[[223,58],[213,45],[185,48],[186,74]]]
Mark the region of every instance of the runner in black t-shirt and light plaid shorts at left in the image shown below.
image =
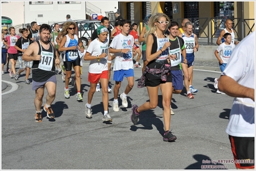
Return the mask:
[[[18,80],[21,72],[26,69],[26,77],[24,82],[29,85],[30,81],[28,80],[28,76],[30,76],[30,69],[33,65],[33,61],[22,60],[22,54],[26,51],[26,49],[28,49],[28,45],[30,45],[30,40],[28,39],[28,29],[22,28],[21,34],[22,37],[19,38],[15,44],[15,49],[18,51],[19,71],[16,72],[14,79]]]

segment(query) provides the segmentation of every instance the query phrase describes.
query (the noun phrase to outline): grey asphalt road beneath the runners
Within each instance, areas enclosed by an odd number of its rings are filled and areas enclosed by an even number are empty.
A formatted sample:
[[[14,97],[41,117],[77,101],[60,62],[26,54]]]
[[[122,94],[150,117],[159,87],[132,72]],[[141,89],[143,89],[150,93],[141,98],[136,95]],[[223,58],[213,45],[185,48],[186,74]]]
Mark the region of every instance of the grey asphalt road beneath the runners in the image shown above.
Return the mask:
[[[171,116],[171,129],[177,136],[176,142],[162,140],[164,124],[160,90],[157,108],[142,112],[136,126],[130,120],[132,104],[148,101],[146,88],[137,88],[141,69],[134,69],[135,85],[128,94],[128,108],[120,106],[119,112],[112,111],[114,93],[109,94],[109,113],[113,122],[101,120],[101,92],[96,92],[92,100],[93,117],[86,118],[87,72],[85,63],[81,76],[83,102],[76,101],[73,86],[70,86],[71,98],[65,99],[62,77],[56,76],[56,99],[52,104],[55,119],[47,118],[43,111],[44,118],[40,123],[34,118],[35,92],[31,90],[31,84],[23,82],[24,74],[18,81],[8,74],[2,76],[2,86],[3,81],[9,81],[4,82],[6,88],[1,95],[2,170],[235,169],[225,133],[233,98],[216,94],[213,85],[220,72],[194,70],[193,86],[198,89],[194,99],[187,99],[183,93],[173,95],[175,115]],[[124,92],[126,84],[124,79],[119,94]],[[46,92],[43,104],[45,97]],[[230,160],[229,163],[221,161],[224,159]]]

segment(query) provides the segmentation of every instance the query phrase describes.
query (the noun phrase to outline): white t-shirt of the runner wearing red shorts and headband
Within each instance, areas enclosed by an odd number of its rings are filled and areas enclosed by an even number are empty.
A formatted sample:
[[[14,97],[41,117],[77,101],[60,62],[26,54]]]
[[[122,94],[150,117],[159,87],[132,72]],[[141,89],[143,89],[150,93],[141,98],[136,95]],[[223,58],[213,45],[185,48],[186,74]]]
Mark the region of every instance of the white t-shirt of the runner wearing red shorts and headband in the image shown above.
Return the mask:
[[[92,42],[87,49],[87,52],[90,53],[90,56],[97,56],[103,53],[107,53],[105,58],[100,58],[99,61],[96,58],[95,60],[91,60],[89,64],[89,72],[93,74],[101,74],[104,70],[108,70],[108,38],[105,42],[99,42],[99,39],[96,38]]]

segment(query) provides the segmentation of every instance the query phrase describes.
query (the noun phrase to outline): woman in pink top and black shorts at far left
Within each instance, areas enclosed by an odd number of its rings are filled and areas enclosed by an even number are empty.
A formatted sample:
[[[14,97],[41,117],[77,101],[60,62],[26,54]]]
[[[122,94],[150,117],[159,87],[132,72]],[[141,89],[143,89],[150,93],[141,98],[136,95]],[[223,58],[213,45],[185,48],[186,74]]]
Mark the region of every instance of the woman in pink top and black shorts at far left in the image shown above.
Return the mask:
[[[11,63],[12,63],[12,67],[9,71],[9,76],[13,77],[12,74],[16,74],[16,70],[15,70],[15,65],[16,65],[16,61],[17,61],[17,49],[15,49],[15,43],[17,42],[17,40],[19,39],[19,36],[16,35],[15,33],[15,28],[10,27],[9,28],[10,31],[10,35],[8,37],[5,38],[5,41],[7,42],[9,48],[7,50],[8,53],[8,58],[10,59]]]

